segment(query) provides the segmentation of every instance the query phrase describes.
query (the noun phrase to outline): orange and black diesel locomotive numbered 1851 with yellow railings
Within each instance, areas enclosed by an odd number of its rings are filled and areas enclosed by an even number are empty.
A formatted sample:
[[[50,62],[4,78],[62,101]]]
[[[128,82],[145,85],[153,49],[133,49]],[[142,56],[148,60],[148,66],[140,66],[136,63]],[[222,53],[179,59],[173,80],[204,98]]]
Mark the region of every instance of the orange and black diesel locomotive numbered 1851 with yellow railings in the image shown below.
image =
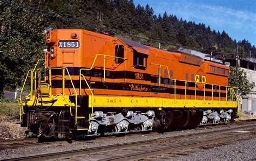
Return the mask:
[[[18,100],[30,135],[196,127],[230,122],[238,112],[223,64],[80,29],[50,30],[45,37],[45,57],[24,82],[30,94]]]

